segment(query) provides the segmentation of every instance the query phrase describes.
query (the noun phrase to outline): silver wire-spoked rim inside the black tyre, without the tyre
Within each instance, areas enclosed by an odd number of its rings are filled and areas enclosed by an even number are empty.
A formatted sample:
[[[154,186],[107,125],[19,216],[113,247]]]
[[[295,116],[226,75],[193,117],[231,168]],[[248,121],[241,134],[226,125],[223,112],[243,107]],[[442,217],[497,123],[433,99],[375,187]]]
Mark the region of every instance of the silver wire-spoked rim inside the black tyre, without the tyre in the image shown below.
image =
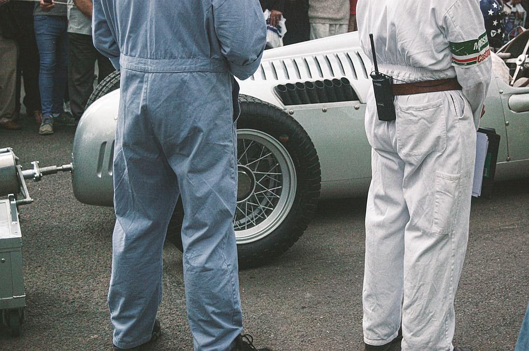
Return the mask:
[[[296,196],[296,169],[288,151],[270,135],[239,129],[238,198],[233,227],[237,243],[261,239],[285,219]]]

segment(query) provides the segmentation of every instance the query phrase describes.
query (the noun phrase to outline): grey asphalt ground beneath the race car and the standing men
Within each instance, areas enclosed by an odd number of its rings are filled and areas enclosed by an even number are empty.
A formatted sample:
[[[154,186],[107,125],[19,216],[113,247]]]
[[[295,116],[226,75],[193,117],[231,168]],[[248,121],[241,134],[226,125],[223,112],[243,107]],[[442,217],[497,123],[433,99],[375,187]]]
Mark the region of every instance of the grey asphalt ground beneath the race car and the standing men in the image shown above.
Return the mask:
[[[75,127],[39,136],[0,130],[24,168],[70,162]],[[106,295],[112,208],[79,203],[70,175],[28,181],[21,207],[26,321],[21,336],[0,332],[0,350],[110,350]],[[245,332],[278,350],[362,350],[365,198],[322,202],[302,238],[275,262],[240,272]],[[454,342],[473,351],[512,350],[529,298],[529,179],[497,183],[473,201],[466,262],[455,303]],[[162,337],[151,350],[192,350],[181,254],[164,249]]]

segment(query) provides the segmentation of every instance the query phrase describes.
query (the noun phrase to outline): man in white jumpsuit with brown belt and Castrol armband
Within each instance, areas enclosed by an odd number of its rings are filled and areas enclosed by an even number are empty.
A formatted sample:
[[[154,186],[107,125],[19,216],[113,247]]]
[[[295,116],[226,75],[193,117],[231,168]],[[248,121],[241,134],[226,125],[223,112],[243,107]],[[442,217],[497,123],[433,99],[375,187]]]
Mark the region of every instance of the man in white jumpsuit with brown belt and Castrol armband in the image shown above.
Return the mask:
[[[467,350],[452,338],[491,75],[479,1],[359,0],[357,21],[363,52],[372,60],[373,33],[379,71],[394,78],[396,110],[380,121],[370,90],[366,350],[397,349],[401,323],[403,351]]]

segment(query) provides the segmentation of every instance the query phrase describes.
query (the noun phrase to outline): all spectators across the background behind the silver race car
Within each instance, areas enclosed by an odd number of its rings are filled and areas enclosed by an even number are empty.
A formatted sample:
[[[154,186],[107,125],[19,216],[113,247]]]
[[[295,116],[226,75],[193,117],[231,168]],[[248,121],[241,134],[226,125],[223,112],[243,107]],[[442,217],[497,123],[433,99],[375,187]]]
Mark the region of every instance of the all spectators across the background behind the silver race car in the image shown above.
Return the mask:
[[[356,31],[357,1],[260,3],[270,11],[269,24],[285,18],[282,40],[289,45]],[[529,8],[529,0],[507,3]],[[92,0],[68,0],[68,5],[0,0],[0,128],[20,129],[21,83],[22,103],[39,124],[39,134],[53,134],[54,125],[77,124],[94,89],[95,63],[97,82],[114,70],[92,43],[92,7]],[[525,27],[527,22],[529,18]]]

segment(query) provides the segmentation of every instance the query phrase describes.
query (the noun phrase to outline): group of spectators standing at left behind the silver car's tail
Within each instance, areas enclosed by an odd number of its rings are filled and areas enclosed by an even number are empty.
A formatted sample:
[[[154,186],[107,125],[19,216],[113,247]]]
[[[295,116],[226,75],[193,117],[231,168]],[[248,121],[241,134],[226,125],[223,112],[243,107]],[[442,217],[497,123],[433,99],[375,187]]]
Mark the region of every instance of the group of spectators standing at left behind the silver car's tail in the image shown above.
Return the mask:
[[[0,0],[0,128],[20,129],[22,82],[39,134],[77,124],[94,88],[95,62],[98,81],[114,70],[94,48],[91,27],[92,0]]]

